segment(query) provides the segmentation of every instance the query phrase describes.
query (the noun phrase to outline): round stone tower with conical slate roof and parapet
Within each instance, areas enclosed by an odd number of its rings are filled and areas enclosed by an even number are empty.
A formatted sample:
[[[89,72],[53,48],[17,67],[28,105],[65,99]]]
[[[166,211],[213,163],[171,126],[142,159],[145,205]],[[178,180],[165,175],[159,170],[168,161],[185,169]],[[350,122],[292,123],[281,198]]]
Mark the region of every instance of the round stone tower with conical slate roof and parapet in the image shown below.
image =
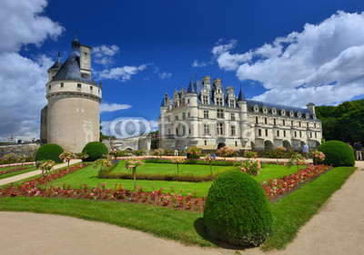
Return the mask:
[[[41,142],[81,152],[87,142],[99,141],[102,87],[91,74],[91,47],[75,39],[66,62],[62,64],[58,54],[48,69],[45,87],[48,104],[41,112]]]

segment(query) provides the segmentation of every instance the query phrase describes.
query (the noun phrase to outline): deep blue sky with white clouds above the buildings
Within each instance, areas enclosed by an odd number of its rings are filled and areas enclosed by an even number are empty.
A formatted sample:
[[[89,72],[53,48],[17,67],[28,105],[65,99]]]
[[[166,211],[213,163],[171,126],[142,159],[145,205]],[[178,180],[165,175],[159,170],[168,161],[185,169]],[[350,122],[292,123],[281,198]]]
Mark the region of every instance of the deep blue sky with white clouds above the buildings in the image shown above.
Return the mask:
[[[0,140],[37,135],[46,69],[58,50],[66,60],[76,31],[81,44],[94,48],[106,125],[116,117],[157,121],[163,93],[187,87],[190,74],[223,77],[237,95],[242,83],[246,97],[270,103],[363,98],[363,8],[354,0],[4,0],[0,35],[8,39],[0,43],[0,68],[20,68],[24,77],[0,71],[0,86],[7,87]]]

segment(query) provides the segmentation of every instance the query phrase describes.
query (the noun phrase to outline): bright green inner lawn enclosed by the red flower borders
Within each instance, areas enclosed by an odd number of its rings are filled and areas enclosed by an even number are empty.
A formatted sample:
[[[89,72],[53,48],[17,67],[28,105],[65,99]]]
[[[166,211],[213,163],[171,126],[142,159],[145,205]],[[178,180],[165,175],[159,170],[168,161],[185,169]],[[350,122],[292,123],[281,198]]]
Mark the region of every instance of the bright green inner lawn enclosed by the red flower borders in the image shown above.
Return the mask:
[[[142,167],[145,167],[147,169],[149,164],[152,165],[152,168],[154,168],[156,165],[156,163],[146,163]],[[174,164],[169,164],[171,166],[166,166],[166,165],[168,165],[167,163],[158,163],[157,165],[160,165],[161,168],[168,168],[168,167],[173,167],[175,169],[177,168],[177,166]],[[140,169],[142,169],[142,167],[140,167]],[[201,171],[203,168],[206,168],[207,172],[209,171],[208,165],[186,164],[186,165],[183,165],[183,167],[189,167],[190,172],[195,171],[195,169],[197,169],[196,167],[198,167],[198,169],[200,169]],[[200,167],[202,167],[202,168],[200,168]],[[217,166],[217,168],[225,168],[225,171],[226,171],[226,170],[232,169],[234,167]],[[126,189],[130,189],[130,190],[134,189],[133,180],[98,179],[97,172],[98,172],[98,168],[94,169],[93,166],[91,165],[91,166],[88,166],[75,173],[66,175],[63,178],[57,179],[55,181],[51,181],[50,183],[53,184],[54,186],[62,186],[63,183],[66,183],[66,184],[70,183],[72,185],[72,187],[75,187],[75,188],[80,187],[80,185],[83,183],[87,183],[90,186],[96,186],[97,183],[106,183],[106,187],[113,188],[113,187],[115,187],[115,185],[117,183],[117,184],[122,184],[123,187],[125,187]],[[139,172],[139,167],[136,169],[136,172]],[[297,172],[297,168],[292,167],[289,170],[287,170],[287,168],[282,165],[266,164],[266,165],[264,165],[263,171],[258,176],[256,176],[255,179],[258,182],[263,182],[268,179],[275,179],[277,177],[288,175],[291,172]],[[187,181],[140,181],[140,180],[137,180],[136,184],[138,187],[142,186],[145,191],[153,191],[153,189],[159,190],[160,188],[165,188],[166,191],[170,191],[169,188],[171,186],[173,186],[175,191],[182,190],[182,194],[184,194],[184,195],[187,195],[187,193],[194,193],[196,191],[198,197],[203,197],[203,196],[207,195],[208,189],[210,188],[212,181],[187,182]]]

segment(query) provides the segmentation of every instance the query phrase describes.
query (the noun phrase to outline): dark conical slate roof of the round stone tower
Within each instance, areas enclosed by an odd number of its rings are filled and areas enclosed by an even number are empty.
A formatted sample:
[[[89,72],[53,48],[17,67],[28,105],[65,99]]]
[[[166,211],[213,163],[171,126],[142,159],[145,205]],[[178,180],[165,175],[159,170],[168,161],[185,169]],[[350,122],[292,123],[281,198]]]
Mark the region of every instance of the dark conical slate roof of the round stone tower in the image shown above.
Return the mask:
[[[73,43],[75,43],[75,41]],[[71,54],[69,54],[65,63],[62,64],[58,73],[56,74],[56,76],[53,78],[52,81],[76,81],[76,82],[93,83],[96,86],[98,86],[98,84],[96,83],[95,79],[92,76],[90,78],[85,78],[81,76],[79,62],[80,62],[79,46],[78,47],[73,46]]]

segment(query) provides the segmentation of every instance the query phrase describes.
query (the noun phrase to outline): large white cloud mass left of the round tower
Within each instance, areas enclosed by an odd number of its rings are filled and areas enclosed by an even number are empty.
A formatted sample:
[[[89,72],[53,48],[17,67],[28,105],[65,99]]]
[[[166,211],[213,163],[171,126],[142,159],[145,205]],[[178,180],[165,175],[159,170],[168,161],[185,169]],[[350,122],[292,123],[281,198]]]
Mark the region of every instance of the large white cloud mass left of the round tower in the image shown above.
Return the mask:
[[[23,45],[40,46],[56,39],[64,28],[42,16],[45,0],[0,2],[0,140],[14,134],[29,140],[39,136],[40,111],[45,106],[46,70],[54,60],[32,60],[18,53]],[[21,7],[19,7],[21,6]]]

